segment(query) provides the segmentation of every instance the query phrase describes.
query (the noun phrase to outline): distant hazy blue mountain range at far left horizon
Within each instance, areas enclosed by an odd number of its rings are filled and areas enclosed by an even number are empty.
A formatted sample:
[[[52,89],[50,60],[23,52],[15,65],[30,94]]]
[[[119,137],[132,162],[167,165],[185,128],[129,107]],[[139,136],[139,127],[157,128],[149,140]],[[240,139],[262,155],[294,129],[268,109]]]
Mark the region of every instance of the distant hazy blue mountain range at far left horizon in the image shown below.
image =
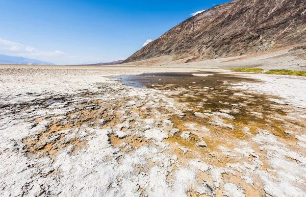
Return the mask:
[[[31,65],[55,65],[49,62],[34,60],[24,57],[6,56],[0,54],[0,64],[31,64]]]

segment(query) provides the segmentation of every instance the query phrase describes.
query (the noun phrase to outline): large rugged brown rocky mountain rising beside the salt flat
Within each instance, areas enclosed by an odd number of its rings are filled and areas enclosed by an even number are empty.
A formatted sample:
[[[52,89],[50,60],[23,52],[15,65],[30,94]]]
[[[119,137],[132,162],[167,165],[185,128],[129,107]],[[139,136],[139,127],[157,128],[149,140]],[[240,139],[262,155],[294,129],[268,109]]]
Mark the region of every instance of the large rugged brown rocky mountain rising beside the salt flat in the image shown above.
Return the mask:
[[[302,43],[305,9],[305,0],[234,0],[188,18],[123,63],[157,57],[186,63]]]

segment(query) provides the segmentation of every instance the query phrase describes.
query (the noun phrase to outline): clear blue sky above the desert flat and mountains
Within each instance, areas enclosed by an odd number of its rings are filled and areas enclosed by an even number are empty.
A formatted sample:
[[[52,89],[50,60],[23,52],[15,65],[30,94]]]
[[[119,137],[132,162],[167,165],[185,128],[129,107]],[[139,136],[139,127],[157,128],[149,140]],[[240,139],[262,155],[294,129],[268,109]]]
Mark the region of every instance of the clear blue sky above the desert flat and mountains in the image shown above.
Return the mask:
[[[55,64],[124,59],[192,13],[224,2],[0,0],[0,54]]]

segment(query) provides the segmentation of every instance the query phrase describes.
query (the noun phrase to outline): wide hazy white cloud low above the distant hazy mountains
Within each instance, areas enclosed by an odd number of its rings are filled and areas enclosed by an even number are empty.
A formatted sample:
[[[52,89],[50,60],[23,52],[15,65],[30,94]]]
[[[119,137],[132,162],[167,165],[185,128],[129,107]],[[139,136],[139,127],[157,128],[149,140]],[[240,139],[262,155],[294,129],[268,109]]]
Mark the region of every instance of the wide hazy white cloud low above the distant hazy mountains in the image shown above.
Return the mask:
[[[12,42],[0,38],[0,54],[11,55],[11,56],[23,56],[23,57],[46,57],[46,56],[60,56],[64,55],[64,52],[54,51],[46,52],[40,51],[33,46],[24,46],[18,42]]]

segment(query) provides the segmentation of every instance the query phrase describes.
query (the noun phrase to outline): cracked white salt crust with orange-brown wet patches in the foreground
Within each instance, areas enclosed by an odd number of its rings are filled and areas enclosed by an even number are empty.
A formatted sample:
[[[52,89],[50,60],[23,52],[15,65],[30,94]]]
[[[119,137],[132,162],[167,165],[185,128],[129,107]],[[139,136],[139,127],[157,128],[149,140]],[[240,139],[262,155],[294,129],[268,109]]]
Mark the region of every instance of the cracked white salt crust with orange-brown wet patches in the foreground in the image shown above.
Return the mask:
[[[305,109],[232,88],[250,79],[158,75],[1,95],[0,195],[306,195]]]

